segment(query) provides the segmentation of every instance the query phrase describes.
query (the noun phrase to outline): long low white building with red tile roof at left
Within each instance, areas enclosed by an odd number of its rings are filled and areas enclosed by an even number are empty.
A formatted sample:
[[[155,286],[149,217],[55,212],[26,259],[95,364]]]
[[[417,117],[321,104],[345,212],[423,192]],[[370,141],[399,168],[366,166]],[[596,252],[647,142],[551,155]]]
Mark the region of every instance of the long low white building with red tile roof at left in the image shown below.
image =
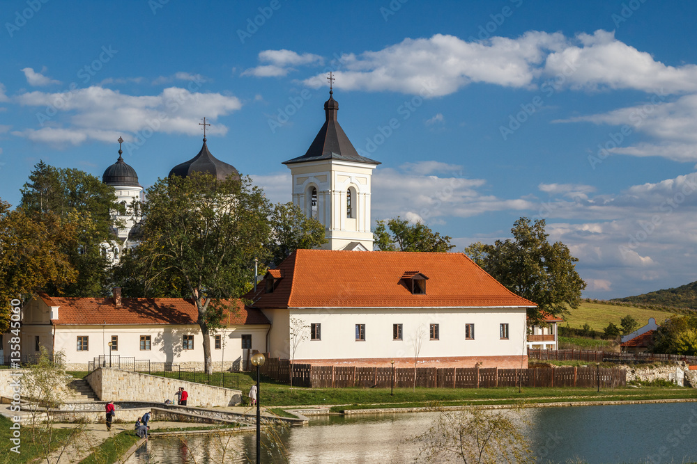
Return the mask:
[[[197,308],[182,298],[63,298],[39,294],[22,309],[22,356],[40,346],[62,351],[63,364],[86,370],[89,362],[112,365],[133,360],[180,367],[203,367],[204,353]],[[268,319],[235,301],[224,328],[210,335],[215,369],[239,369],[252,350],[265,351]],[[109,343],[112,345],[109,346]],[[155,367],[153,366],[153,369]]]

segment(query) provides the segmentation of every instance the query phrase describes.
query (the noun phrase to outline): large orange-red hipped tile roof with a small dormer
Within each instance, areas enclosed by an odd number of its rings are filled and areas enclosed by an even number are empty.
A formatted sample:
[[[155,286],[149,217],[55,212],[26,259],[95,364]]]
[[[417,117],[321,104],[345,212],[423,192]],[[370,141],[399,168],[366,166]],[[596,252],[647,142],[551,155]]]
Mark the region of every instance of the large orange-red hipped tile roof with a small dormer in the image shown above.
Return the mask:
[[[429,276],[414,295],[405,273]],[[297,250],[279,266],[273,293],[258,288],[254,307],[534,307],[462,253]]]

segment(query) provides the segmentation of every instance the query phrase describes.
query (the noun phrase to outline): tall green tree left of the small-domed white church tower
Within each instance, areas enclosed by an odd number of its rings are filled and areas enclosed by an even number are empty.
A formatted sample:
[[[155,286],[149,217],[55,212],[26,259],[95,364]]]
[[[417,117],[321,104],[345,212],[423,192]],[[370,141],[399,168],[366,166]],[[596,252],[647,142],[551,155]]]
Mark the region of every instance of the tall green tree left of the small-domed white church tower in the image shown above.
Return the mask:
[[[101,244],[115,237],[110,211],[123,209],[116,203],[114,187],[81,170],[54,168],[40,161],[21,192],[20,207],[27,215],[42,220],[50,212],[77,230],[77,243],[62,249],[77,270],[77,279],[64,287],[49,284],[47,291],[67,296],[109,294],[111,272]]]

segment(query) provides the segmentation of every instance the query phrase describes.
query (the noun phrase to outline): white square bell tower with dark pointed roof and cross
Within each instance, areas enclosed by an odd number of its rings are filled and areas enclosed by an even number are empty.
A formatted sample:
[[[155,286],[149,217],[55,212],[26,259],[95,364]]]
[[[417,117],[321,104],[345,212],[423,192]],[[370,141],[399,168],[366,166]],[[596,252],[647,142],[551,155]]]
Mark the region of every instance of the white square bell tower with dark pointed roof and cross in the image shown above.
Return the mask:
[[[380,162],[356,152],[337,121],[333,93],[330,81],[326,120],[307,152],[284,161],[293,178],[293,203],[324,225],[323,248],[372,251],[370,177]]]

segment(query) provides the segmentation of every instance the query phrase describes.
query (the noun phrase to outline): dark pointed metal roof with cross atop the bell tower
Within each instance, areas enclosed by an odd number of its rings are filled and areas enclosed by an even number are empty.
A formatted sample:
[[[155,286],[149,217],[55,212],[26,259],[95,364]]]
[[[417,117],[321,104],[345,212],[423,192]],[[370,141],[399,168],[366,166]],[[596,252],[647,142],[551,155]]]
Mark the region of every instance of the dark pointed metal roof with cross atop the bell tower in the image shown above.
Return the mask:
[[[319,161],[321,159],[340,159],[343,161],[355,161],[357,163],[381,164],[380,161],[369,159],[360,156],[353,147],[353,144],[348,140],[348,136],[344,129],[337,121],[337,113],[339,113],[339,102],[333,97],[332,73],[329,77],[329,99],[324,102],[324,113],[326,120],[319,133],[312,141],[307,152],[302,157],[297,157],[284,161],[283,164],[303,163],[306,161]]]

